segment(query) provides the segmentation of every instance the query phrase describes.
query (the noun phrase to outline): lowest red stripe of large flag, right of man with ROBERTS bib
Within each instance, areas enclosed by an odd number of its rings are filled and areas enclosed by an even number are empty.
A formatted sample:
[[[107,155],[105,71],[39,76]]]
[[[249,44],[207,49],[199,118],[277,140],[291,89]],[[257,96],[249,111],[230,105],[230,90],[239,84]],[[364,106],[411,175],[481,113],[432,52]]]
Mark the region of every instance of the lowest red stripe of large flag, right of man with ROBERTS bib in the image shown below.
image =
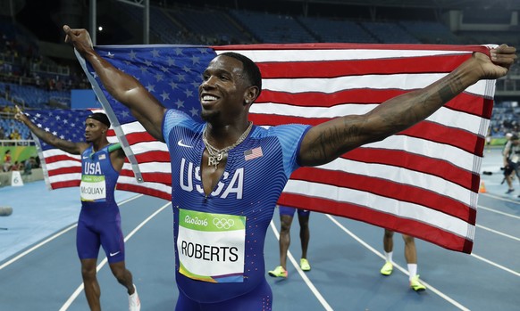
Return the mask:
[[[421,233],[421,239],[436,244],[439,244],[439,241],[442,241],[440,246],[448,250],[463,251],[469,254],[473,248],[473,241],[466,240],[465,237],[443,231],[441,228],[424,224],[416,220],[395,217],[379,210],[371,209],[370,213],[367,213],[365,208],[359,207],[356,204],[331,201],[322,198],[309,198],[286,192],[281,194],[279,202],[285,206],[309,209],[331,215],[356,219],[412,236],[417,236],[417,233]]]

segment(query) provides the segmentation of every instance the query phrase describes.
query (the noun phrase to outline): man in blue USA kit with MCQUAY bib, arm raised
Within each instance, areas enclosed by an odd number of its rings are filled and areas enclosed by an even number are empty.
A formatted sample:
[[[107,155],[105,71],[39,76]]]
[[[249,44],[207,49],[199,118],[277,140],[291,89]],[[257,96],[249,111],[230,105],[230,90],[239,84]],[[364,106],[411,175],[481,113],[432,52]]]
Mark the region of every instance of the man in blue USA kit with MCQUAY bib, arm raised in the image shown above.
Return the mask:
[[[14,116],[42,141],[71,154],[81,155],[81,211],[76,233],[76,248],[90,310],[101,310],[101,290],[96,278],[99,247],[103,246],[113,275],[129,294],[130,311],[140,310],[138,292],[132,274],[124,263],[124,240],[119,207],[113,192],[125,160],[119,143],[106,140],[110,121],[105,113],[92,113],[85,120],[86,142],[72,143],[36,126],[18,108]]]

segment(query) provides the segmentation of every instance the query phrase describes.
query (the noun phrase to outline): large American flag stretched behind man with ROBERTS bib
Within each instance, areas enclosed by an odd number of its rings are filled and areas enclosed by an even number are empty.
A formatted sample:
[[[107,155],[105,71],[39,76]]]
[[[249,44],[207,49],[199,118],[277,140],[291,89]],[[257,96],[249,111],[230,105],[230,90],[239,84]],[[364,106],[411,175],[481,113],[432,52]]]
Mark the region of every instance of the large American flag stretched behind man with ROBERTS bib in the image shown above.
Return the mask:
[[[197,86],[207,63],[219,53],[243,53],[262,71],[264,90],[251,107],[250,119],[263,127],[316,125],[363,114],[391,97],[428,86],[474,51],[487,50],[480,45],[350,44],[96,47],[164,106],[196,119]],[[172,178],[165,144],[148,135],[107,94],[89,64],[79,60],[129,158],[118,188],[169,200]],[[480,81],[415,127],[329,164],[298,169],[280,203],[470,253],[493,94],[494,81]],[[79,175],[69,176],[75,177]]]

